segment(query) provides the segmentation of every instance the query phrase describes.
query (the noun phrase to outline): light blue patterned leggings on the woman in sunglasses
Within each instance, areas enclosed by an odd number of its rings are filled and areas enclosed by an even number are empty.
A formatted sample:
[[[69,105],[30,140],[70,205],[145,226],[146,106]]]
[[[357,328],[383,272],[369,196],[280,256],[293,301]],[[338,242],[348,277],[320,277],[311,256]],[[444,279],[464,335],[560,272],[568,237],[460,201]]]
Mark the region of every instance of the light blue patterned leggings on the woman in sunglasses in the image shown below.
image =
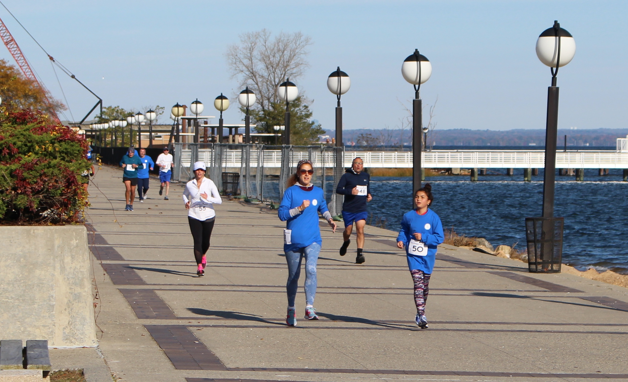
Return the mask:
[[[313,305],[316,295],[316,264],[320,244],[311,243],[305,248],[296,251],[286,251],[286,262],[288,262],[288,306],[295,306],[296,290],[299,287],[299,276],[301,275],[301,260],[305,257],[305,304]]]

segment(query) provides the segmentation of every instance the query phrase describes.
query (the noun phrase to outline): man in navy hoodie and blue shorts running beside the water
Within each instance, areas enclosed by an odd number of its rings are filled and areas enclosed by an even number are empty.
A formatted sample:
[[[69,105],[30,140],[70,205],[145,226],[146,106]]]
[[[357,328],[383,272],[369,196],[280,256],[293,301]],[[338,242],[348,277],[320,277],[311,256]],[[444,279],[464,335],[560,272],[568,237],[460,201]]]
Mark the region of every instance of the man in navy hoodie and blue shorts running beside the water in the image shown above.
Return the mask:
[[[351,243],[351,231],[355,221],[355,231],[357,233],[357,256],[355,263],[361,264],[365,262],[362,250],[364,250],[364,225],[369,213],[366,209],[367,201],[371,201],[371,177],[364,170],[364,162],[362,158],[356,157],[350,169],[338,182],[336,193],[345,196],[342,203],[342,220],[345,222],[345,230],[342,236],[345,242],[340,247],[340,256],[347,253],[349,243]]]

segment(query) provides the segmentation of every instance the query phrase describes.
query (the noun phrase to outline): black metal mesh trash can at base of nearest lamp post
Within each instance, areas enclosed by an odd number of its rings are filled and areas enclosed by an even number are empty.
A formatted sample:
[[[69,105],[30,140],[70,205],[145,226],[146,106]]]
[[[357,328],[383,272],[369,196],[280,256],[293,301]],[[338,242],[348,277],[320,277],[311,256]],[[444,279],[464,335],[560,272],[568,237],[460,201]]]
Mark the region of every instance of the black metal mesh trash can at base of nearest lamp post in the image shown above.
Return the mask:
[[[560,272],[563,223],[563,218],[526,218],[529,272]]]

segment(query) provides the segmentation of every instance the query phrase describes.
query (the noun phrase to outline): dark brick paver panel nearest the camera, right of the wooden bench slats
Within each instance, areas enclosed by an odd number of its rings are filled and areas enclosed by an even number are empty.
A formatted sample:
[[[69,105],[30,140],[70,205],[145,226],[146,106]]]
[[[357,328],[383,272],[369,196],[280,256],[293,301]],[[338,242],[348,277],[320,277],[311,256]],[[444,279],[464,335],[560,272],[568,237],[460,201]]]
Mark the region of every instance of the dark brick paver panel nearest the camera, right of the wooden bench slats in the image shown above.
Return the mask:
[[[212,351],[182,325],[144,325],[175,369],[227,370]]]

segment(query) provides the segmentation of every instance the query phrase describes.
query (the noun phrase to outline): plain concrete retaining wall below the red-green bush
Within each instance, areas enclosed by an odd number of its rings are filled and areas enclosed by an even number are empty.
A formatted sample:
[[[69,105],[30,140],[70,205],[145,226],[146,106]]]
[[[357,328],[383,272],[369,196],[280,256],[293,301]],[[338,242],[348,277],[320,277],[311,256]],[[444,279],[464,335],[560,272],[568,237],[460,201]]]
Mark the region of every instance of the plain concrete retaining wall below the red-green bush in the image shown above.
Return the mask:
[[[0,248],[0,339],[96,346],[85,226],[0,226]]]

